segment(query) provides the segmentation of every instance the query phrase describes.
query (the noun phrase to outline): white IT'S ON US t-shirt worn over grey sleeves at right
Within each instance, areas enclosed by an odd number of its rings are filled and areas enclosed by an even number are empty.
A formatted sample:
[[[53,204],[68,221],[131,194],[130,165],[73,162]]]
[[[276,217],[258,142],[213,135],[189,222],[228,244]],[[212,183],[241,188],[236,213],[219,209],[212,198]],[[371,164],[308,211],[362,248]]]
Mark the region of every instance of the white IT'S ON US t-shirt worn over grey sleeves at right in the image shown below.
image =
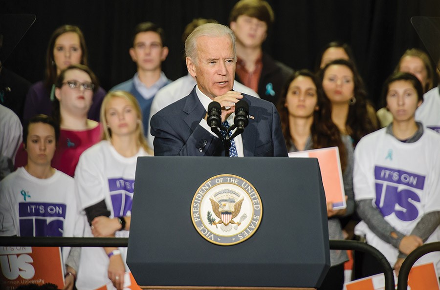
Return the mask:
[[[354,199],[373,199],[385,220],[399,232],[409,235],[428,212],[440,210],[440,135],[425,129],[417,142],[403,143],[386,133],[373,132],[354,150]],[[377,237],[364,223],[355,233],[365,235],[367,243],[381,251],[392,266],[398,249]],[[440,241],[437,228],[426,243]],[[433,261],[439,268],[440,253],[418,260]]]

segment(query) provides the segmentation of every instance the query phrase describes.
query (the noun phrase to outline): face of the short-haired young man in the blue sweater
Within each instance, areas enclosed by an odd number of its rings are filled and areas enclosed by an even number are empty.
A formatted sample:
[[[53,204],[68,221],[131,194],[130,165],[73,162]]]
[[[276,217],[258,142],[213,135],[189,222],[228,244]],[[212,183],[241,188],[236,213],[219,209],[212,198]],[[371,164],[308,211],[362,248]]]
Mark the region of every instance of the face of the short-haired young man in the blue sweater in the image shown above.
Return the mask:
[[[137,68],[144,71],[161,69],[161,63],[168,55],[168,47],[162,46],[158,33],[153,31],[140,32],[134,38],[130,56]]]

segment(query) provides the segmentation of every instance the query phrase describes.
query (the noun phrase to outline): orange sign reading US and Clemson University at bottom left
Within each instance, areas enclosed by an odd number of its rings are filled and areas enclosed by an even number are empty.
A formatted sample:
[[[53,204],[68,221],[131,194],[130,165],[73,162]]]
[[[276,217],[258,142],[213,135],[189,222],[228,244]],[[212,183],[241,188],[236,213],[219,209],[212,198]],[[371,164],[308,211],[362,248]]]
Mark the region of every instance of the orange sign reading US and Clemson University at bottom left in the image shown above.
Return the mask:
[[[0,290],[52,283],[64,288],[59,247],[0,247]]]

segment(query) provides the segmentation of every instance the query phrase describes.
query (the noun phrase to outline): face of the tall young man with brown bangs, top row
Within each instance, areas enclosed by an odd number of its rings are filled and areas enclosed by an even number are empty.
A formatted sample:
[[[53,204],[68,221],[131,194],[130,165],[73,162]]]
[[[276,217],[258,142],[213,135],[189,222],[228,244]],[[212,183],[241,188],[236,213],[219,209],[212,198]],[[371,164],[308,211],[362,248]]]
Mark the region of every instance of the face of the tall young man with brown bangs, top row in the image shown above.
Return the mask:
[[[260,47],[267,36],[267,24],[255,17],[240,15],[237,21],[229,25],[234,31],[237,41],[245,47]]]

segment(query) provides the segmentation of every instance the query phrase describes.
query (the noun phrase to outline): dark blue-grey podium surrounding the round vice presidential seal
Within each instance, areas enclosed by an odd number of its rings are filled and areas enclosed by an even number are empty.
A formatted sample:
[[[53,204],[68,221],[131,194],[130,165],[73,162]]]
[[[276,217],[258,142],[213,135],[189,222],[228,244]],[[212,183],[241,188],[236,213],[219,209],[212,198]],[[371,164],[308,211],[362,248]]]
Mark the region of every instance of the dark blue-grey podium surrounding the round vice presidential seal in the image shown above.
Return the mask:
[[[192,221],[193,198],[201,185],[224,174],[252,184],[263,207],[259,228],[230,246],[209,242]],[[139,158],[127,264],[144,289],[319,287],[330,268],[330,253],[317,160]]]

